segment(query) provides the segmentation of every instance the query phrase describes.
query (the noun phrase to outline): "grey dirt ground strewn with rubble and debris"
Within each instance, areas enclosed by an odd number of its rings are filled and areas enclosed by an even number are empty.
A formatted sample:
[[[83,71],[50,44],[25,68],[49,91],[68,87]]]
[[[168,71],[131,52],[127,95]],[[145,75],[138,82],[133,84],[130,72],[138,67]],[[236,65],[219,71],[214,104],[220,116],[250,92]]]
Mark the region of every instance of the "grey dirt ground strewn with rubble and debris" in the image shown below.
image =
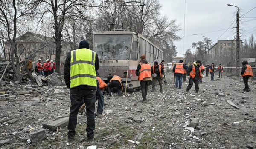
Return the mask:
[[[168,84],[164,92],[148,91],[148,102],[139,102],[141,92],[130,93],[127,97],[105,96],[103,117],[96,117],[95,139],[86,140],[85,114],[80,115],[76,127],[76,141],[67,142],[67,127],[47,133],[47,139],[27,143],[30,132],[43,129],[42,124],[55,117],[68,117],[70,107],[69,89],[49,87],[39,94],[20,95],[20,91],[38,92],[37,86],[11,86],[16,101],[0,101],[0,140],[15,138],[15,143],[0,145],[0,149],[247,149],[256,147],[256,80],[249,80],[251,92],[243,92],[241,77],[218,78],[210,81],[203,78],[200,91],[195,94],[195,85],[186,95],[188,83],[182,89],[173,86],[173,73],[166,75]],[[2,87],[3,89],[4,87]],[[220,94],[224,93],[224,94]],[[222,97],[221,97],[222,96]],[[225,97],[224,97],[225,96]],[[249,99],[242,99],[242,97]],[[3,97],[1,98],[3,99]],[[40,100],[39,103],[29,104]],[[232,101],[239,109],[227,103]],[[175,113],[178,112],[178,113]],[[6,119],[18,119],[8,124]],[[191,118],[199,120],[196,129],[186,128]],[[236,123],[234,123],[236,122]],[[239,123],[237,123],[239,122]],[[84,139],[85,138],[85,139]],[[132,143],[132,141],[134,141]]]

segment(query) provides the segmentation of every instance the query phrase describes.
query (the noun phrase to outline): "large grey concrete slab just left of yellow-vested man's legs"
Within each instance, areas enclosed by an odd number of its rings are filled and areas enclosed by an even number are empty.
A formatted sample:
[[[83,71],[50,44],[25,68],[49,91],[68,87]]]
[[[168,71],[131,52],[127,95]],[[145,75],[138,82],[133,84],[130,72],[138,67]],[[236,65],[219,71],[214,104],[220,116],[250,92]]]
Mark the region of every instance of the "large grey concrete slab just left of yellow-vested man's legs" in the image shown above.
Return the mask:
[[[55,132],[55,130],[57,128],[66,127],[68,125],[68,120],[69,120],[69,117],[63,117],[63,118],[59,118],[57,120],[49,120],[43,124],[43,128],[45,128],[45,129],[47,128],[50,131]]]

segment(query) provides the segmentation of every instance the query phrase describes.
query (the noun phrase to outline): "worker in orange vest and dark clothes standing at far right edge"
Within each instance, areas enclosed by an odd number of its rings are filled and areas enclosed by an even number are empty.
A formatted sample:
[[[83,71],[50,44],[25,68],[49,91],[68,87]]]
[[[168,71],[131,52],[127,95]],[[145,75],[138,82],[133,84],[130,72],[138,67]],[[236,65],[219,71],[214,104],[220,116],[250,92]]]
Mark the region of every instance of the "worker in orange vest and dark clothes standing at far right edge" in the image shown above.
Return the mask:
[[[241,76],[243,77],[244,86],[245,86],[243,90],[246,92],[250,92],[248,80],[250,77],[253,77],[253,70],[252,70],[252,67],[248,65],[248,62],[246,60],[243,61],[242,64],[243,64],[243,67],[242,67]]]

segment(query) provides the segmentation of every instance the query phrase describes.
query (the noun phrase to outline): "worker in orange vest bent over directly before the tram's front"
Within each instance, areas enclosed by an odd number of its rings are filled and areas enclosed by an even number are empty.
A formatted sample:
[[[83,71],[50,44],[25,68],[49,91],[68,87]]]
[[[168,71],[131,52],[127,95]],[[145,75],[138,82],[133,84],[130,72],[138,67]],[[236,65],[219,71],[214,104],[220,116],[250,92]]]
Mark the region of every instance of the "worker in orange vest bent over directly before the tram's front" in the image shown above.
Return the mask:
[[[118,96],[121,96],[121,90],[123,90],[122,78],[114,75],[110,82],[108,83],[108,95],[112,95],[112,88],[117,88]]]

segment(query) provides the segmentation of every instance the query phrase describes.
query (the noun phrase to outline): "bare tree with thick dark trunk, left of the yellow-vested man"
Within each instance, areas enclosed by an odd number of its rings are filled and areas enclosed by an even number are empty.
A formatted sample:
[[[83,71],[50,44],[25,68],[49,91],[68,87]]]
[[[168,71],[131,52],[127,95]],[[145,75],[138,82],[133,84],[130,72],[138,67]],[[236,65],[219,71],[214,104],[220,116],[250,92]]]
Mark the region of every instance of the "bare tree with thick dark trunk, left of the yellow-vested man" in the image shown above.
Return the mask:
[[[53,19],[54,39],[56,44],[56,72],[60,73],[60,57],[62,48],[62,31],[69,17],[79,16],[79,12],[94,6],[93,0],[32,0],[32,11],[40,14],[40,21],[51,16]]]

